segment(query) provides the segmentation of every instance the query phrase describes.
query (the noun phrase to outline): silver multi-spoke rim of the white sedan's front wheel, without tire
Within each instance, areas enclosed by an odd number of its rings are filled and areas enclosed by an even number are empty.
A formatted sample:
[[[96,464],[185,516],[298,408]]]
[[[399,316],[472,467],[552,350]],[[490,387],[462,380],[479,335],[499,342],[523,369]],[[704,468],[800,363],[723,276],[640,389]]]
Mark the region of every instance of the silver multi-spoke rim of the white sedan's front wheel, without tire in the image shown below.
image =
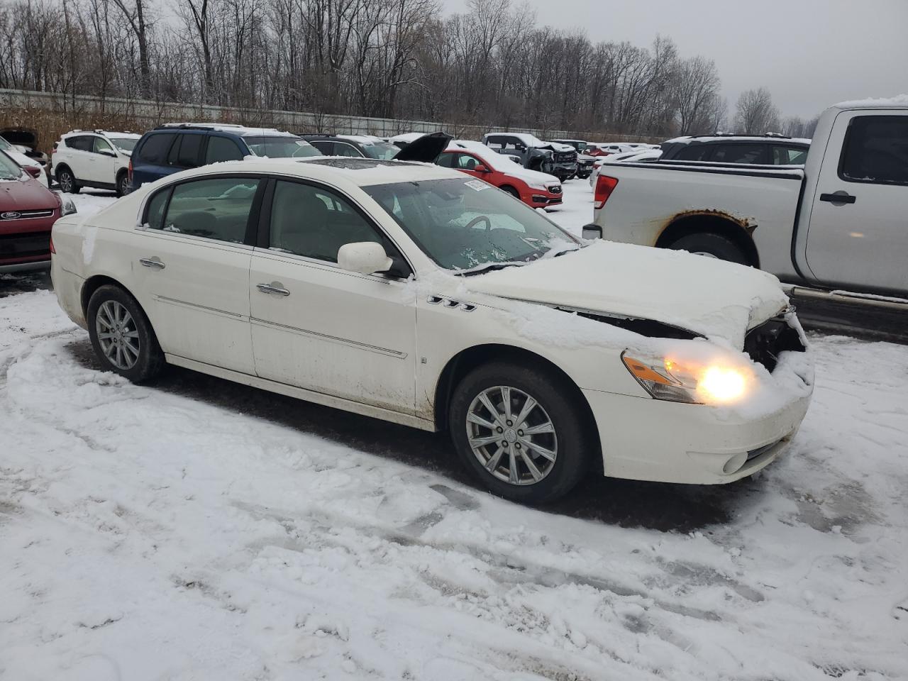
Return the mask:
[[[555,425],[538,400],[523,390],[482,390],[469,405],[466,427],[473,455],[499,480],[533,485],[555,466]]]

